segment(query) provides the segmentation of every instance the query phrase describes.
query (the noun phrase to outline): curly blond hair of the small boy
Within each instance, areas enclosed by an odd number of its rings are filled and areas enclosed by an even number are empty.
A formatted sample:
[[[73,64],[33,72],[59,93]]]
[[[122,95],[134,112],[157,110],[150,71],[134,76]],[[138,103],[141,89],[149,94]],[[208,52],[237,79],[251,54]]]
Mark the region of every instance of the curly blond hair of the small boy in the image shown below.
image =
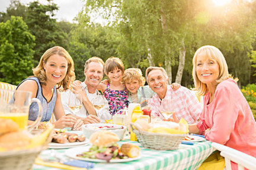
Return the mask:
[[[139,68],[128,68],[124,71],[121,82],[129,83],[135,79],[139,80],[140,86],[144,86],[146,80],[142,76],[142,71]]]

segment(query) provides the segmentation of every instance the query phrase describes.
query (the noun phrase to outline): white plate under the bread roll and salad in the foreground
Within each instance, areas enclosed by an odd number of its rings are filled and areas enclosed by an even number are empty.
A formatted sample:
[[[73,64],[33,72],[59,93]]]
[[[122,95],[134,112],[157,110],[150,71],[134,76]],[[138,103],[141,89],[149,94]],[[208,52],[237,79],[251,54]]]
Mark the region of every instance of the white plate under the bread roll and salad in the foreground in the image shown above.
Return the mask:
[[[91,148],[91,146],[81,146],[81,147],[71,148],[71,149],[67,149],[65,151],[65,154],[67,156],[69,156],[70,158],[79,159],[79,160],[82,160],[82,161],[107,162],[103,159],[81,158],[81,157],[76,156],[77,154],[81,154],[83,152],[89,151],[89,148]],[[141,156],[137,156],[136,158],[127,158],[127,159],[111,159],[110,163],[129,162],[129,161],[135,161],[135,160],[140,159],[140,158],[141,158]]]

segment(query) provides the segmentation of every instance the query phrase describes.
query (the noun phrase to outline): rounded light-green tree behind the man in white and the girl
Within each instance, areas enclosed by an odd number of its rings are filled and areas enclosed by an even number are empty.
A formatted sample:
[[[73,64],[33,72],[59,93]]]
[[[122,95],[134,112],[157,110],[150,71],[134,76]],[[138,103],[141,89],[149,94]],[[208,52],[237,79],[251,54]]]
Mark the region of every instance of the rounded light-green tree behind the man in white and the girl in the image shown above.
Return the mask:
[[[87,25],[87,27],[78,25],[72,31],[71,37],[68,51],[74,60],[78,80],[84,80],[84,63],[90,57],[97,56],[105,61],[108,57],[117,56],[119,38],[113,28],[102,27],[100,24]]]

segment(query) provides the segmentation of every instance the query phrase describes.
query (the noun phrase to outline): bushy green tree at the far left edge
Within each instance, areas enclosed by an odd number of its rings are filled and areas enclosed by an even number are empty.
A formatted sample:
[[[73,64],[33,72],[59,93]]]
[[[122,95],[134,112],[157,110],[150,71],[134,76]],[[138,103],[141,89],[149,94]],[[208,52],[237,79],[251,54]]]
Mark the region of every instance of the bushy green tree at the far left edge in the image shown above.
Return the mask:
[[[18,84],[31,76],[34,40],[22,17],[0,23],[0,81]]]

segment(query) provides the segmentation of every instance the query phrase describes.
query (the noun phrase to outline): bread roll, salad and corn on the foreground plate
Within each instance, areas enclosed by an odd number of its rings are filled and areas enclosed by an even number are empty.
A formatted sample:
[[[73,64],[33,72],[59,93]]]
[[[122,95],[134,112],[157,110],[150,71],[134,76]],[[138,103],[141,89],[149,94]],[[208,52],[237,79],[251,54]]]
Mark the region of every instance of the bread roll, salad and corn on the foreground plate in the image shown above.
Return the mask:
[[[87,152],[83,152],[76,156],[82,158],[91,158],[91,159],[103,159],[109,162],[111,159],[127,159],[134,158],[139,155],[139,146],[135,145],[126,145],[123,144],[123,151],[119,145],[117,145],[117,141],[119,141],[119,137],[116,133],[110,132],[108,130],[100,130],[95,132],[90,137],[90,142],[92,143],[91,148]]]

